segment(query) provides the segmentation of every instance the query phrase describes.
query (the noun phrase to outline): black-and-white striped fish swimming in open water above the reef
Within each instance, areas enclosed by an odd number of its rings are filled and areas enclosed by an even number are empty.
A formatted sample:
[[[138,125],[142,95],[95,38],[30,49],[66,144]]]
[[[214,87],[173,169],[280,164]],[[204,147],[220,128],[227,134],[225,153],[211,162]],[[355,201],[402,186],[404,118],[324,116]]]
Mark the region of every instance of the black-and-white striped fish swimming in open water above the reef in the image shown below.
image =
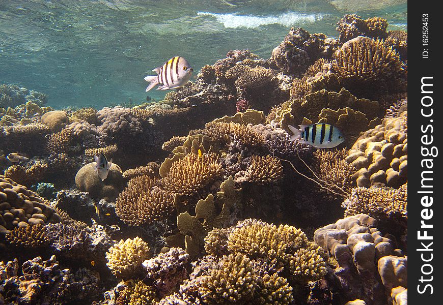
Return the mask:
[[[181,56],[175,56],[164,63],[163,66],[157,67],[152,71],[157,73],[157,75],[145,77],[145,80],[149,82],[146,92],[156,85],[159,85],[157,90],[179,88],[188,82],[194,70],[186,59]]]

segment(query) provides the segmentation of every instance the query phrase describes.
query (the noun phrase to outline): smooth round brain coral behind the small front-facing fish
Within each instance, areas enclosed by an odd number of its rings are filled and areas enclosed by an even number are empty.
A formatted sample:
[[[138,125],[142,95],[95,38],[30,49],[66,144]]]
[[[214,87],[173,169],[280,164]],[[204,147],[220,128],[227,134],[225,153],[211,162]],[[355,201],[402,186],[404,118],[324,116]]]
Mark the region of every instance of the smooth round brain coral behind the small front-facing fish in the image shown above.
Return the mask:
[[[107,178],[102,181],[97,174],[95,162],[80,168],[75,175],[75,185],[82,192],[89,192],[93,199],[114,201],[124,185],[123,172],[113,163],[109,168]]]

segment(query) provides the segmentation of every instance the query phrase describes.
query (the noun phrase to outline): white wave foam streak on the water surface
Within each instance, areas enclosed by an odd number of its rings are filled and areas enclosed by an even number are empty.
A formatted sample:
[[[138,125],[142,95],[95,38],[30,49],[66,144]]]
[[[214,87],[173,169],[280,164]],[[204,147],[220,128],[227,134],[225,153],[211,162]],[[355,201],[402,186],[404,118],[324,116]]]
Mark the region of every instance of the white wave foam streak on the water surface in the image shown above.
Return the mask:
[[[255,28],[267,24],[281,24],[293,26],[300,23],[314,23],[322,19],[324,14],[304,14],[297,12],[287,12],[277,16],[241,16],[236,14],[215,14],[209,12],[198,12],[197,15],[212,16],[218,22],[229,28]]]

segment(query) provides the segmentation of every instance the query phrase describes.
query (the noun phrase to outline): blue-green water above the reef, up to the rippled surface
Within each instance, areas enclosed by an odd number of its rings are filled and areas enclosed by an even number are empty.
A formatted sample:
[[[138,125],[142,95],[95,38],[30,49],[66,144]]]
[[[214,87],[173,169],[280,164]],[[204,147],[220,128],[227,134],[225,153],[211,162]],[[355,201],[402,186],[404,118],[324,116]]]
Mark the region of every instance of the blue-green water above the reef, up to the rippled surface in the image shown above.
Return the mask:
[[[0,0],[0,83],[46,93],[55,108],[140,104],[143,78],[172,56],[196,71],[233,49],[269,58],[291,26],[336,37],[346,13],[407,30],[404,0]]]

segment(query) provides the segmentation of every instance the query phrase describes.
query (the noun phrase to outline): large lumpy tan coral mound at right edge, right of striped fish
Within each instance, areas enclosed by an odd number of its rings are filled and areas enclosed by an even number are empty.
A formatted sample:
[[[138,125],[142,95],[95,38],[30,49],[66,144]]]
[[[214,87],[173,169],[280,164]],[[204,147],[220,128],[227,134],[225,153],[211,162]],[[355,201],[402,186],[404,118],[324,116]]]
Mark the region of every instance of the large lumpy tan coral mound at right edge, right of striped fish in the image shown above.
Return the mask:
[[[358,187],[371,185],[398,188],[407,180],[407,133],[404,116],[385,118],[381,125],[363,133],[348,152],[345,161],[356,169]]]

